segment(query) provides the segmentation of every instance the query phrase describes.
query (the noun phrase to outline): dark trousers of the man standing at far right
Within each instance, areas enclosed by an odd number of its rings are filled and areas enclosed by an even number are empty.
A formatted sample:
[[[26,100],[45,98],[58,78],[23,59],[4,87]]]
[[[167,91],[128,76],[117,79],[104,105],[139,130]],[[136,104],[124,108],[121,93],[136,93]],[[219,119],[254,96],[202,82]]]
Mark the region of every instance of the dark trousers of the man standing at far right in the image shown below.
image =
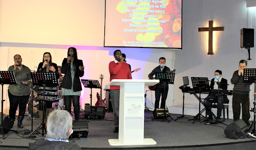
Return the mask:
[[[249,94],[233,93],[233,98],[232,98],[233,119],[234,119],[234,121],[240,119],[241,103],[242,103],[242,119],[249,126],[250,125],[250,123],[249,123],[249,119],[250,119]]]

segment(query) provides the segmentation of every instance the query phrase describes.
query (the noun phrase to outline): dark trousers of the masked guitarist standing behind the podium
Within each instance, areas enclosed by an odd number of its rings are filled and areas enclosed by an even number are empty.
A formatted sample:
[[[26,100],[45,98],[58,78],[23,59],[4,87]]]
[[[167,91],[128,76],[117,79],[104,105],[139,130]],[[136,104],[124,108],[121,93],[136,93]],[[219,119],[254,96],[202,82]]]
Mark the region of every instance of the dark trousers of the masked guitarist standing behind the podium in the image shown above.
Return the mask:
[[[165,100],[168,94],[168,86],[165,87],[165,94],[164,94],[164,88],[157,88],[155,91],[155,96],[156,96],[156,101],[155,101],[155,109],[159,108],[159,102],[160,102],[160,96],[162,95],[161,98],[161,106],[160,108],[165,107]]]

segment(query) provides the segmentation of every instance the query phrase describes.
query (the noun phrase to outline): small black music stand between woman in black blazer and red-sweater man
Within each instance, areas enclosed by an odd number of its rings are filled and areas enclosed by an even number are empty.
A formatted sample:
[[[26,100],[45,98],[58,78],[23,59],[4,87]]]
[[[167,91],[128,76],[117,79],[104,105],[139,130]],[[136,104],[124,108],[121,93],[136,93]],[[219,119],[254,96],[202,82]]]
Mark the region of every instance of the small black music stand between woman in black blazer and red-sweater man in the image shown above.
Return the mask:
[[[89,114],[89,120],[90,120],[92,118],[92,114],[94,114],[92,112],[92,89],[93,88],[101,89],[101,86],[100,86],[98,80],[84,80],[84,79],[82,79],[81,81],[82,81],[82,84],[83,84],[84,87],[91,89],[91,94],[90,94],[91,105],[90,105],[90,112],[88,113]],[[84,116],[86,116],[88,114],[84,114]],[[96,114],[94,114],[94,115],[96,116]]]

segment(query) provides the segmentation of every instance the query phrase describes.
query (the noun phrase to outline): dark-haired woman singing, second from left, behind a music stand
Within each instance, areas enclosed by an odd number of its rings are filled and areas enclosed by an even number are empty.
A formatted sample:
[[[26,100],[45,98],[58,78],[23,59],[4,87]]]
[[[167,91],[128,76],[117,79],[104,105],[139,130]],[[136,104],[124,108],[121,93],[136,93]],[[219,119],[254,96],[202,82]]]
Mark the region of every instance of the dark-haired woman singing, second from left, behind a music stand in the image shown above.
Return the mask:
[[[49,52],[44,53],[44,57],[42,58],[42,62],[39,63],[38,67],[37,67],[37,72],[56,72],[56,76],[57,79],[59,79],[59,73],[58,73],[58,67],[57,64],[52,62],[52,55]],[[42,87],[42,86],[41,86]],[[56,87],[56,91],[57,92],[57,86]],[[45,89],[46,92],[48,92],[48,89]],[[53,92],[53,90],[49,90],[50,92]],[[38,93],[38,100],[39,99],[43,99],[44,97],[41,97],[42,94]],[[39,97],[40,96],[40,97]],[[53,100],[56,99],[56,96],[50,96],[47,95],[45,96],[45,106],[44,106],[44,111],[45,111],[45,116],[44,117],[46,119],[47,122],[47,117],[48,115],[52,112],[52,103]],[[42,122],[42,115],[43,115],[43,109],[42,109],[42,103],[41,101],[39,101],[39,110],[38,110],[38,114],[39,114],[39,118]]]

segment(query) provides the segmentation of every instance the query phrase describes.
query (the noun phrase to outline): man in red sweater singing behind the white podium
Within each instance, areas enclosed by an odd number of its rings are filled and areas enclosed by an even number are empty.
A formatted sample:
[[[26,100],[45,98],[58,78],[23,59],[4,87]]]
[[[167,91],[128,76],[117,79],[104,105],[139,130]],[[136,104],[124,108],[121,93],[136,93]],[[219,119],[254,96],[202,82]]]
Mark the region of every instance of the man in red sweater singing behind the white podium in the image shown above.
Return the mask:
[[[131,70],[129,65],[123,62],[124,58],[119,49],[114,52],[115,60],[110,62],[110,82],[113,79],[132,79]],[[119,131],[119,95],[120,95],[120,86],[110,86],[110,97],[114,113],[114,133]]]

